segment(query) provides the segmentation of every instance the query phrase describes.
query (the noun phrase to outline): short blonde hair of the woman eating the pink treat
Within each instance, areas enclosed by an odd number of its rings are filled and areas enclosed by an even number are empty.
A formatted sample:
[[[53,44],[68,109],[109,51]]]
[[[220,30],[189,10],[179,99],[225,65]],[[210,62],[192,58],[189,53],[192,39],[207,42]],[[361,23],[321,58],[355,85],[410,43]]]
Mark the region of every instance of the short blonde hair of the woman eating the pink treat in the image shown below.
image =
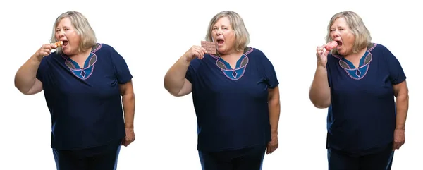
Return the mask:
[[[344,18],[348,27],[353,33],[355,40],[353,45],[353,53],[357,53],[360,49],[366,48],[372,41],[372,36],[360,16],[353,11],[343,11],[332,16],[328,25],[328,34],[326,35],[326,43],[333,41],[331,38],[331,26],[338,18]],[[338,54],[336,49],[332,49],[332,54]]]

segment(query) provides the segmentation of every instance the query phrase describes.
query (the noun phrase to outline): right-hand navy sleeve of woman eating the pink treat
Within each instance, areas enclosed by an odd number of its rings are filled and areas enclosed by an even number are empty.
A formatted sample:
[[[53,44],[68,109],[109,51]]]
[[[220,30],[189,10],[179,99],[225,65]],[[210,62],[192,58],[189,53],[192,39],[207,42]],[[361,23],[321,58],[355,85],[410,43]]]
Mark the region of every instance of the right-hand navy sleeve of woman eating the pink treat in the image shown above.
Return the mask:
[[[407,77],[405,76],[400,61],[398,61],[396,56],[386,47],[383,49],[383,54],[389,69],[389,80],[391,80],[393,85],[402,83]]]

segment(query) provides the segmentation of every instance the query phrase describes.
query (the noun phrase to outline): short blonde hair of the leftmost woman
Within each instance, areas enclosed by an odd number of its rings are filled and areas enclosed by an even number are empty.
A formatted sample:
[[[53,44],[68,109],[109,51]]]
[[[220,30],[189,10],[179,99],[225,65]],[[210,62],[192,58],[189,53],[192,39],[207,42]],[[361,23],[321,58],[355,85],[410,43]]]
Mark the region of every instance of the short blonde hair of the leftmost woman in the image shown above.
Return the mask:
[[[57,42],[56,40],[56,27],[63,18],[69,18],[71,20],[72,26],[75,29],[76,33],[80,36],[80,44],[78,45],[78,52],[86,51],[91,47],[94,47],[97,44],[97,37],[95,36],[94,30],[92,30],[90,23],[88,23],[87,18],[77,11],[68,11],[62,13],[59,17],[56,18],[56,22],[53,25],[53,33],[51,34],[50,43]],[[61,53],[61,48],[57,48],[56,52]]]

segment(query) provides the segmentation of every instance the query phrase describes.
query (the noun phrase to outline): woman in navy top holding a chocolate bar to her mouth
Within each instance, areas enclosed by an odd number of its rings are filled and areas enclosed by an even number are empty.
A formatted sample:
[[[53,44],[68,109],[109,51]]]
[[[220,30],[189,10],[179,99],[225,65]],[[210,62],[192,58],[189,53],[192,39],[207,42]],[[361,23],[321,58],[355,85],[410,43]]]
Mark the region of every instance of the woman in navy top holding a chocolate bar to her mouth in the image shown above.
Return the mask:
[[[222,11],[210,20],[206,40],[217,54],[193,46],[176,61],[164,87],[176,97],[192,92],[203,170],[259,170],[278,147],[279,90],[274,66],[248,47],[243,19]]]

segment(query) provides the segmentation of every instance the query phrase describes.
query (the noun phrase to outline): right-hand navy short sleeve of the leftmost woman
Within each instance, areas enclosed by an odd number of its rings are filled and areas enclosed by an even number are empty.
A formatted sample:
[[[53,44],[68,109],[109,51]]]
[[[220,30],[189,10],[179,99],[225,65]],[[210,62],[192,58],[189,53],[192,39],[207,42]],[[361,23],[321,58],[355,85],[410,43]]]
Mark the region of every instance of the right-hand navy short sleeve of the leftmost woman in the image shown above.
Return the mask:
[[[118,79],[119,84],[127,83],[133,78],[125,59],[123,59],[123,56],[121,56],[121,54],[119,54],[113,47],[111,47],[111,61],[114,64],[116,78]]]

